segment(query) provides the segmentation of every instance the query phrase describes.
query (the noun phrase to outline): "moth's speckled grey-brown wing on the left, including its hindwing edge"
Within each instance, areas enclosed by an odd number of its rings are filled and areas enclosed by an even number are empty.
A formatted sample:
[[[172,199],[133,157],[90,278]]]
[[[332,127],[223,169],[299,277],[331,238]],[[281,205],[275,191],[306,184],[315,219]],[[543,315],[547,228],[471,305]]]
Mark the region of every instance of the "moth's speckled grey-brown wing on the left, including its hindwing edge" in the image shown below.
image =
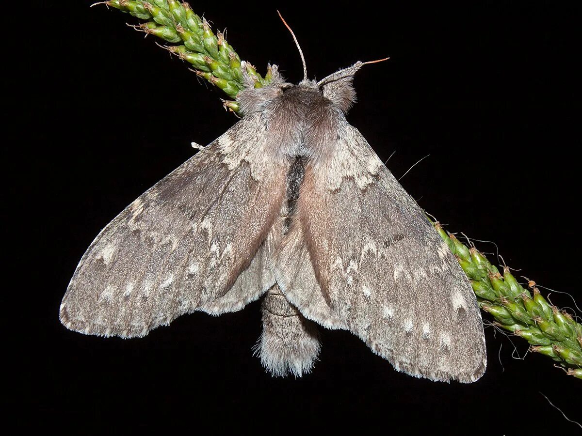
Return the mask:
[[[134,337],[183,313],[241,309],[274,284],[288,164],[261,113],[239,121],[95,238],[61,305],[66,327]]]

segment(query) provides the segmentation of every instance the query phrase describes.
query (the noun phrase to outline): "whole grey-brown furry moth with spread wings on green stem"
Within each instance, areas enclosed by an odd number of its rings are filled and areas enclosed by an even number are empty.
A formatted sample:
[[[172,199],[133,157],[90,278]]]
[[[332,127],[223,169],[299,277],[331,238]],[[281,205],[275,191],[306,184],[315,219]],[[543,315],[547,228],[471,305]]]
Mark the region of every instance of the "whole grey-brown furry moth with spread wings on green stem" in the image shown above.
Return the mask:
[[[246,76],[242,119],[97,235],[61,322],[143,337],[186,313],[262,298],[257,352],[274,376],[311,371],[319,324],[349,330],[411,376],[477,380],[485,339],[469,280],[346,121],[365,63],[314,81],[301,58],[299,84],[276,66],[265,87]]]

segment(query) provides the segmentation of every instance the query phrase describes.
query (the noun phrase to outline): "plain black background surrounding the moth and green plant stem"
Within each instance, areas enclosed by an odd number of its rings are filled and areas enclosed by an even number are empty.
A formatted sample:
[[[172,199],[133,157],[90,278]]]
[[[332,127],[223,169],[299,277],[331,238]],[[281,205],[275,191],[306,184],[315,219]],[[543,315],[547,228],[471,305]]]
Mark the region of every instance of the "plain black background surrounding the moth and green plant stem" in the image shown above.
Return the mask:
[[[514,359],[527,344],[513,338],[514,352],[492,327],[485,330],[487,372],[470,385],[397,373],[360,339],[324,330],[312,374],[271,378],[251,352],[261,331],[258,302],[220,317],[183,316],[143,339],[87,337],[62,327],[59,303],[98,231],[188,159],[190,141],[207,144],[236,121],[217,90],[198,84],[154,37],[144,40],[125,26],[137,19],[74,3],[41,6],[36,25],[43,30],[27,33],[23,56],[34,97],[25,102],[11,189],[18,198],[14,224],[26,231],[15,231],[23,249],[8,264],[9,274],[27,283],[14,292],[27,307],[12,334],[23,345],[9,398],[23,412],[20,423],[58,422],[72,431],[68,424],[79,419],[75,433],[97,424],[113,431],[120,420],[136,430],[186,424],[193,433],[208,424],[243,433],[579,430],[540,392],[581,421],[580,381],[544,356]],[[243,59],[261,72],[276,63],[294,82],[302,76],[299,55],[276,8],[299,38],[312,78],[391,56],[358,73],[350,123],[383,160],[395,151],[388,167],[396,177],[430,153],[401,181],[425,210],[449,231],[495,241],[508,265],[522,269],[517,276],[580,301],[574,11],[552,2],[468,3],[475,5],[192,7],[215,28],[228,27]],[[496,252],[493,244],[476,244]],[[569,296],[550,299],[573,305]]]

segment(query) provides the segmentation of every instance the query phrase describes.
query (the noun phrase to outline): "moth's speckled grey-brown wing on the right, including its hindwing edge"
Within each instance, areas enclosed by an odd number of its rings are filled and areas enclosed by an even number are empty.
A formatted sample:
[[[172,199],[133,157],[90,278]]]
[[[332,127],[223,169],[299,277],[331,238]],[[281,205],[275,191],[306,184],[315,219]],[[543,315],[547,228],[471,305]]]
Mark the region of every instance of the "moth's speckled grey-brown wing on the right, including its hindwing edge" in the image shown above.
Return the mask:
[[[477,380],[485,343],[469,281],[359,131],[327,116],[276,253],[279,285],[304,316],[349,329],[398,370]]]

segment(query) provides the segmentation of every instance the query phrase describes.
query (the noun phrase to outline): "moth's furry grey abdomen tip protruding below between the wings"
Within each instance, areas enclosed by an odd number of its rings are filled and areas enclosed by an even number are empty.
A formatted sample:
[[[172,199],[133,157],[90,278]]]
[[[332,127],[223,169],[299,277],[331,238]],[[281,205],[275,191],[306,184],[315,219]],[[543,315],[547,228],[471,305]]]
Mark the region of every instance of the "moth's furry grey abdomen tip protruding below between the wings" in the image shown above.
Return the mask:
[[[261,303],[262,333],[255,354],[274,377],[310,373],[321,350],[317,324],[301,315],[274,284]]]

